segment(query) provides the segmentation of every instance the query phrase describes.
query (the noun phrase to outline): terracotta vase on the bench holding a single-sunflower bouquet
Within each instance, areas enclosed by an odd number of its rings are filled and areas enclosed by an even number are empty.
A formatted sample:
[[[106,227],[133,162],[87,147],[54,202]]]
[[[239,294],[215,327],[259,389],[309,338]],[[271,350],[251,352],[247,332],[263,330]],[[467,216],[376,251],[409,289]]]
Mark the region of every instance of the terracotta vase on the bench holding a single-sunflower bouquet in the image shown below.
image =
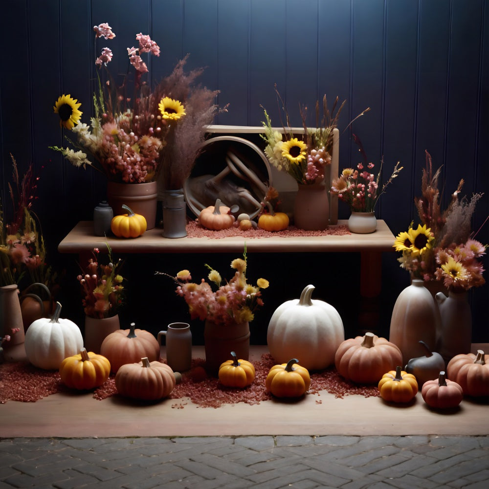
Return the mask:
[[[330,203],[324,181],[299,185],[294,201],[294,225],[305,231],[322,231],[328,227]]]

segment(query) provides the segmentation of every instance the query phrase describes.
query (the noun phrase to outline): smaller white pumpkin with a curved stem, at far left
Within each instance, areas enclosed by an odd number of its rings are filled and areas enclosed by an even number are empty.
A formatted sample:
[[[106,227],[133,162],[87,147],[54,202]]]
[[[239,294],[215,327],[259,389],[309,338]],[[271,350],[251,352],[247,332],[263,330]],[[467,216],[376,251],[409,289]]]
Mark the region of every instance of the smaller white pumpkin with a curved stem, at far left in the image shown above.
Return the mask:
[[[69,319],[60,319],[61,304],[51,319],[37,319],[25,333],[25,353],[36,367],[59,369],[67,356],[76,355],[83,348],[83,336],[78,326]]]

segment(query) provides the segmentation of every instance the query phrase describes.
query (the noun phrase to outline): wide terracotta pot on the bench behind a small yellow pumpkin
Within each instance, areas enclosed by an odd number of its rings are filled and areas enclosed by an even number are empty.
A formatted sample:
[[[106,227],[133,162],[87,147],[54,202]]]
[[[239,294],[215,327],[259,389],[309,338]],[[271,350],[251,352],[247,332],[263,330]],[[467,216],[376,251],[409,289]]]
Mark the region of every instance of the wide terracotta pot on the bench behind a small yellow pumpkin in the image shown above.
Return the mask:
[[[146,219],[146,229],[156,225],[157,184],[145,183],[116,183],[107,182],[107,201],[114,216],[127,214],[122,208],[126,204],[135,214],[141,214]]]

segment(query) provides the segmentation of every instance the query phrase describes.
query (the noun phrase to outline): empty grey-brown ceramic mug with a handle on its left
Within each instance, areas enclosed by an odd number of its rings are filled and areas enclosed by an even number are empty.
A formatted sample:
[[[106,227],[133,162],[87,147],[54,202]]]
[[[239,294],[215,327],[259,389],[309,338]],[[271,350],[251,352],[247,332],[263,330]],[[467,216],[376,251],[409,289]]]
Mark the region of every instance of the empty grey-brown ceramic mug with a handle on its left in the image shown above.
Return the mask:
[[[166,361],[174,372],[185,372],[192,365],[192,332],[188,323],[171,323],[158,333],[158,342],[166,340]],[[161,355],[160,355],[161,356]]]

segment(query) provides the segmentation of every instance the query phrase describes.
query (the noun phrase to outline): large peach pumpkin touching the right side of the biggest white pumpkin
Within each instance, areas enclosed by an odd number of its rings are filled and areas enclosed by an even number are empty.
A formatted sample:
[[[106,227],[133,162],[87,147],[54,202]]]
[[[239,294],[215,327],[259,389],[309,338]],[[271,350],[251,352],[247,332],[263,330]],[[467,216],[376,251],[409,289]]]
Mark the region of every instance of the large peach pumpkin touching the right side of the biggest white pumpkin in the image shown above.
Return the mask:
[[[343,341],[334,356],[339,375],[360,384],[377,383],[386,371],[402,363],[400,349],[374,333]]]

